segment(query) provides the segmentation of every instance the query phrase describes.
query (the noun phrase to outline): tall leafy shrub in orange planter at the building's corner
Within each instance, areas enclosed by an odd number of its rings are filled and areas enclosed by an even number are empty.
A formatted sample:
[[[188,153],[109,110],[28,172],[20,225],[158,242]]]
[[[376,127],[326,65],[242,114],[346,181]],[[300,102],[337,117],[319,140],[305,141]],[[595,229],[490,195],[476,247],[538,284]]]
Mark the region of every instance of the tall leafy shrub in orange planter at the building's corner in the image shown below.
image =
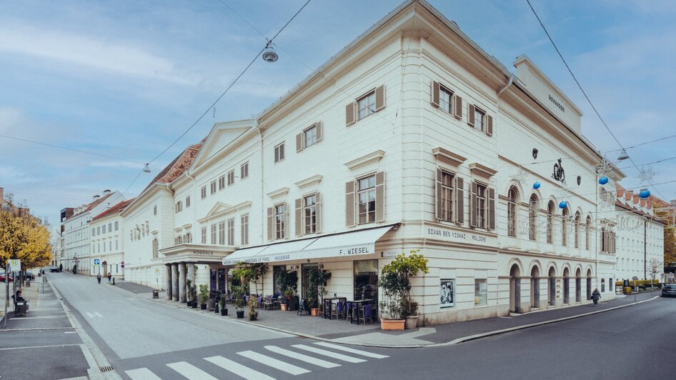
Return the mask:
[[[418,304],[411,297],[410,276],[418,271],[428,273],[427,262],[419,250],[399,254],[391,263],[385,265],[378,279],[383,300],[380,306],[380,326],[383,330],[403,330],[404,322],[409,319],[410,328],[417,325]]]

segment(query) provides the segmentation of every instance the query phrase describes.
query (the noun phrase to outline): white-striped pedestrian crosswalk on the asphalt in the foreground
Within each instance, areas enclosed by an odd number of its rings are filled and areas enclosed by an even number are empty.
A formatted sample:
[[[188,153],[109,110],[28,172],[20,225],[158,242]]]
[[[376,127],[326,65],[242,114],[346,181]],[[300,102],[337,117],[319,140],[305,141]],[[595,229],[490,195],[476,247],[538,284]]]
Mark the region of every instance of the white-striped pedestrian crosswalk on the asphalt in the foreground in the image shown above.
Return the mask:
[[[237,356],[233,355],[229,358],[224,356],[209,356],[203,358],[203,361],[199,361],[199,363],[177,361],[166,364],[166,366],[174,371],[172,372],[174,373],[174,376],[171,376],[171,379],[177,378],[176,375],[180,374],[189,380],[231,379],[233,377],[232,375],[237,375],[248,380],[274,380],[274,376],[279,376],[279,374],[282,374],[282,376],[284,376],[284,374],[297,376],[317,370],[317,367],[320,369],[331,369],[341,366],[344,363],[356,364],[368,360],[364,358],[385,359],[389,357],[387,355],[375,354],[361,349],[352,349],[350,347],[339,346],[328,342],[315,342],[314,345],[292,344],[289,348],[264,346],[264,349],[266,351],[263,352],[252,350],[239,351],[237,352]],[[328,359],[319,359],[317,356]],[[244,358],[247,364],[235,361],[237,358]],[[290,361],[289,359],[292,360]],[[248,365],[248,363],[252,361],[258,364],[256,369],[251,368],[251,366]],[[209,366],[207,362],[213,364],[215,367]],[[216,367],[224,370],[224,372],[214,371],[214,368]],[[131,380],[162,379],[146,367],[131,369],[125,371],[125,374],[129,376]],[[164,374],[166,374],[166,371]]]

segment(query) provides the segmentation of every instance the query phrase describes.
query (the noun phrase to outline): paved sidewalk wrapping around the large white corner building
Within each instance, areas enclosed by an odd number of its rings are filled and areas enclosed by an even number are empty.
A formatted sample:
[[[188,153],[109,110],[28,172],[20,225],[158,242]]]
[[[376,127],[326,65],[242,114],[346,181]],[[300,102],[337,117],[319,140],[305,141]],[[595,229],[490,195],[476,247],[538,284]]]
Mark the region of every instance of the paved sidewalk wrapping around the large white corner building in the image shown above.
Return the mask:
[[[189,309],[186,307],[186,304],[166,300],[164,291],[159,293],[159,299],[152,299],[152,288],[148,286],[123,281],[120,281],[118,285],[120,289],[130,291],[149,301]],[[252,324],[266,329],[334,343],[389,348],[417,348],[458,344],[463,341],[479,339],[483,336],[502,334],[508,331],[579,318],[588,314],[603,313],[620,307],[631,306],[635,302],[650,301],[655,296],[660,296],[660,291],[655,291],[652,294],[650,292],[637,294],[636,301],[634,301],[634,295],[616,296],[613,300],[600,302],[598,306],[594,306],[592,301],[585,301],[577,306],[558,307],[556,309],[545,309],[528,314],[512,314],[511,316],[475,319],[404,331],[382,331],[380,324],[377,323],[366,325],[349,324],[344,320],[329,320],[305,315],[297,316],[294,311],[279,310],[259,310],[259,320],[248,321],[246,318],[237,319],[234,316],[233,305],[227,305],[228,316],[221,316],[213,311],[204,311],[199,308],[194,309],[194,311],[209,314],[215,318],[228,318],[240,323]]]

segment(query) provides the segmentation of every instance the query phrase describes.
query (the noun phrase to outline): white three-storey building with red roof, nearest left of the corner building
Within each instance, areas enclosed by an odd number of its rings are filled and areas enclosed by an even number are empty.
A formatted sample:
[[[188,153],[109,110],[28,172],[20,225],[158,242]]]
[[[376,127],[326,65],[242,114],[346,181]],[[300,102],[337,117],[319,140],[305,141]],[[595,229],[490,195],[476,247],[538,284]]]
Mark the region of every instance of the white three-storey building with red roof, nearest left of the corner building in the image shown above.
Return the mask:
[[[111,274],[124,279],[124,219],[120,216],[126,206],[134,201],[121,201],[106,211],[94,216],[89,222],[92,276]]]

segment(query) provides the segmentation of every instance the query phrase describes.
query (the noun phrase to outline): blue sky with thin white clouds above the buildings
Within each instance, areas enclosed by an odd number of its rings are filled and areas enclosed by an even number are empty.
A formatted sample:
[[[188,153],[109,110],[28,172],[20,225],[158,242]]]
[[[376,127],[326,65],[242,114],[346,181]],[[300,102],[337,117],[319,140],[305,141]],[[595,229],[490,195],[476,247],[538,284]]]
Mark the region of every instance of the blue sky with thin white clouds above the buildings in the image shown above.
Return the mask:
[[[401,4],[311,0],[274,39],[279,61],[256,59],[210,109],[305,1],[0,2],[0,186],[53,226],[61,209],[104,189],[136,196],[214,123],[259,114]],[[617,158],[612,150],[620,146],[526,0],[429,3],[512,72],[517,56],[529,56],[582,110],[587,139]],[[676,1],[531,3],[622,146],[676,134]],[[627,153],[641,165],[676,156],[675,143],[664,139]],[[146,162],[150,174],[141,172]],[[659,184],[676,179],[675,164],[645,167]],[[618,166],[627,168],[623,186],[641,185],[628,161]],[[676,183],[650,191],[676,199]]]

